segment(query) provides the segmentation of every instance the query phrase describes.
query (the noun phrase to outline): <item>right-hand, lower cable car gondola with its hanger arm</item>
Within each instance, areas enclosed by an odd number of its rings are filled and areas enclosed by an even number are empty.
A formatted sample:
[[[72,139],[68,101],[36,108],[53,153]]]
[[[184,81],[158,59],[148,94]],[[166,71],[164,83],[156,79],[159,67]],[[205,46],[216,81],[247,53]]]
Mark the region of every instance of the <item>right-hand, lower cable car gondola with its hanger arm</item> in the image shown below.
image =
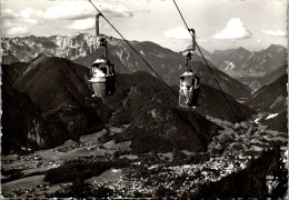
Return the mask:
[[[197,108],[200,90],[200,78],[189,67],[189,60],[191,60],[191,52],[196,51],[196,34],[195,30],[190,29],[192,34],[192,48],[186,51],[187,53],[187,71],[180,76],[180,89],[179,89],[179,106],[182,108]]]

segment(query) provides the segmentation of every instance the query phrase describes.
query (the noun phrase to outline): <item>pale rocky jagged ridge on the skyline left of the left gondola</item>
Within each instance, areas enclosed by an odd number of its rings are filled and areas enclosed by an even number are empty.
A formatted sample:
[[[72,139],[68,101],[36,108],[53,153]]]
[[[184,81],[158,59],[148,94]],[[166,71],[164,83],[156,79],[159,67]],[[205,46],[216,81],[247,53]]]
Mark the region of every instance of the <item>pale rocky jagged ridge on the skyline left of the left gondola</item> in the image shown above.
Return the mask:
[[[88,33],[51,37],[1,38],[2,56],[28,62],[39,54],[50,53],[69,60],[93,52],[99,46],[97,37]]]

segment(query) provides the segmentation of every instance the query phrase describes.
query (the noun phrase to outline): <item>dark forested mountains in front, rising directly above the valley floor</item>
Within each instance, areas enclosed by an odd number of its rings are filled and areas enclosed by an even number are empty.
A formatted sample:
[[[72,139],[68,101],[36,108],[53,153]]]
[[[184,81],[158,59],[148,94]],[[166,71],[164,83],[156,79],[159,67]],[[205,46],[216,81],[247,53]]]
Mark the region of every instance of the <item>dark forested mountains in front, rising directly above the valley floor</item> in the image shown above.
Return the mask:
[[[23,147],[56,147],[104,126],[123,123],[130,124],[123,136],[132,140],[134,151],[146,151],[136,148],[146,137],[155,141],[151,144],[158,151],[172,147],[199,151],[206,149],[219,129],[205,118],[207,114],[235,120],[227,107],[220,107],[225,104],[221,97],[219,100],[215,96],[218,100],[210,101],[210,96],[219,93],[216,89],[203,84],[200,110],[183,110],[159,79],[143,71],[118,73],[117,92],[106,99],[91,97],[87,67],[63,58],[40,56],[31,62],[3,64],[2,72],[4,153],[18,152]],[[228,98],[240,120],[255,113]],[[222,112],[211,108],[221,108]]]

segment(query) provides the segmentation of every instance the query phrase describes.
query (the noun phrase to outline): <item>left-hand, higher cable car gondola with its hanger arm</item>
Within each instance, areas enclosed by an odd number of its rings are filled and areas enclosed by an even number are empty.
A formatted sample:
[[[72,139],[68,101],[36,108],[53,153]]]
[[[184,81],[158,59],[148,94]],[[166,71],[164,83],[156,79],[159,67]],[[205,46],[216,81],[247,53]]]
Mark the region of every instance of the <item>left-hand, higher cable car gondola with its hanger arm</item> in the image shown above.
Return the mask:
[[[116,91],[116,72],[114,66],[108,60],[107,39],[99,34],[99,17],[96,16],[96,33],[99,38],[100,47],[104,48],[104,54],[98,58],[91,67],[91,79],[94,94],[92,97],[104,98],[112,96]]]

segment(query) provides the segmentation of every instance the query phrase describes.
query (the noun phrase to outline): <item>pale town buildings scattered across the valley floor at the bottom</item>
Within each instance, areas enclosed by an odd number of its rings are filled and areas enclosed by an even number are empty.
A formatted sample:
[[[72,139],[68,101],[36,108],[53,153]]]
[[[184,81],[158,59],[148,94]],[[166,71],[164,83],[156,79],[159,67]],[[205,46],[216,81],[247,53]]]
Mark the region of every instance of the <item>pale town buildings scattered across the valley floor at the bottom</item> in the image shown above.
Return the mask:
[[[227,128],[230,124],[226,124]],[[165,166],[156,163],[146,163],[144,161],[136,162],[136,159],[130,160],[131,168],[122,169],[122,174],[119,176],[118,180],[101,180],[91,183],[91,187],[97,188],[109,188],[113,191],[112,198],[124,198],[124,197],[152,197],[158,190],[166,189],[168,191],[176,192],[179,197],[188,191],[193,192],[198,190],[198,186],[208,182],[219,181],[222,178],[237,172],[247,167],[249,160],[252,157],[257,158],[258,151],[263,148],[270,147],[270,134],[263,131],[250,128],[249,138],[248,134],[239,134],[233,131],[237,128],[229,128],[230,132],[222,131],[219,136],[215,137],[211,144],[209,146],[208,152],[211,152],[210,158],[207,161],[202,161],[197,164],[182,164],[182,166]],[[256,132],[253,132],[253,130]],[[226,138],[228,137],[229,138]],[[225,148],[226,147],[226,148]],[[212,149],[222,149],[222,153],[213,153]],[[71,143],[70,146],[51,149],[52,152],[68,152],[71,150],[97,150],[107,151],[101,143],[88,143],[78,142]],[[288,162],[288,149],[287,147],[281,148],[283,153],[283,162]],[[253,153],[250,153],[253,152]],[[94,157],[93,157],[94,158]],[[92,156],[90,160],[93,160]],[[106,158],[113,159],[111,153]],[[134,157],[133,157],[134,158]],[[138,158],[136,156],[136,158]],[[160,157],[159,157],[160,158]],[[171,158],[172,159],[172,158]],[[160,158],[160,160],[163,160]],[[13,164],[13,162],[18,164]],[[136,163],[134,163],[136,162]],[[21,156],[14,160],[6,160],[6,166],[2,169],[7,170],[14,166],[14,169],[37,169],[37,168],[57,168],[62,164],[62,161],[46,161],[40,154]],[[168,160],[170,163],[170,159]],[[168,164],[167,163],[167,164]],[[112,169],[111,173],[117,173],[118,170]],[[142,172],[140,172],[142,171]],[[71,184],[62,187],[69,188]],[[47,190],[49,186],[37,186],[29,190],[14,189],[11,194],[6,196],[7,198],[16,198],[23,196],[24,193],[33,193],[36,190]],[[29,196],[28,196],[29,197]],[[31,197],[33,198],[33,197]]]

